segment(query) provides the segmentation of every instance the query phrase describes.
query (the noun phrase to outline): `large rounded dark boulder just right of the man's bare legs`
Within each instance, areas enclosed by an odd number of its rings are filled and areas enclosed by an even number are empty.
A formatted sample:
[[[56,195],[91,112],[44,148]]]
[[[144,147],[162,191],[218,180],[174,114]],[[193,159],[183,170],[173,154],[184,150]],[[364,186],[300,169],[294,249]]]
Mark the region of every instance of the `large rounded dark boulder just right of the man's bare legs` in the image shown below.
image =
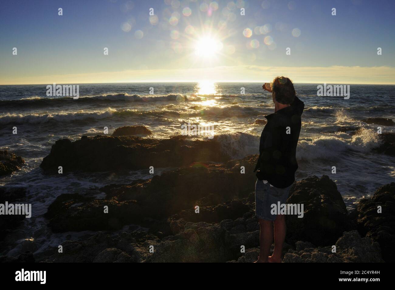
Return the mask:
[[[288,215],[287,241],[305,240],[314,245],[334,245],[344,231],[352,229],[346,205],[337,186],[327,175],[295,182],[288,204],[303,204],[304,216]]]

